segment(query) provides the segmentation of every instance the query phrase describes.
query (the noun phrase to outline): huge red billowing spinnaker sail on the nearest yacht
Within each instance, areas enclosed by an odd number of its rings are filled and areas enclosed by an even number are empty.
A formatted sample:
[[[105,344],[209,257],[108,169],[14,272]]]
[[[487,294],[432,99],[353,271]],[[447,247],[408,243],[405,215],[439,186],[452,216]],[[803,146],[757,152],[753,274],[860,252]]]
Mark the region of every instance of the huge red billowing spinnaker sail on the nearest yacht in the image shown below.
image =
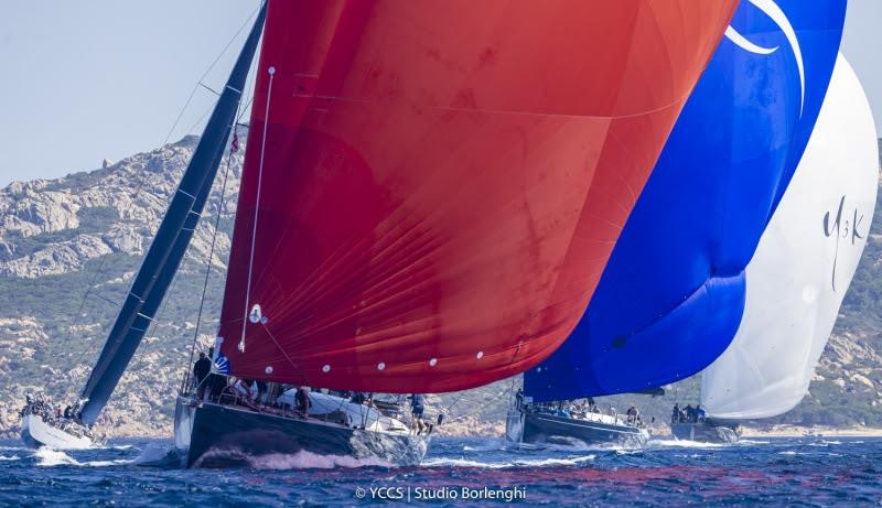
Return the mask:
[[[232,374],[438,392],[544,359],[735,3],[271,1]]]

